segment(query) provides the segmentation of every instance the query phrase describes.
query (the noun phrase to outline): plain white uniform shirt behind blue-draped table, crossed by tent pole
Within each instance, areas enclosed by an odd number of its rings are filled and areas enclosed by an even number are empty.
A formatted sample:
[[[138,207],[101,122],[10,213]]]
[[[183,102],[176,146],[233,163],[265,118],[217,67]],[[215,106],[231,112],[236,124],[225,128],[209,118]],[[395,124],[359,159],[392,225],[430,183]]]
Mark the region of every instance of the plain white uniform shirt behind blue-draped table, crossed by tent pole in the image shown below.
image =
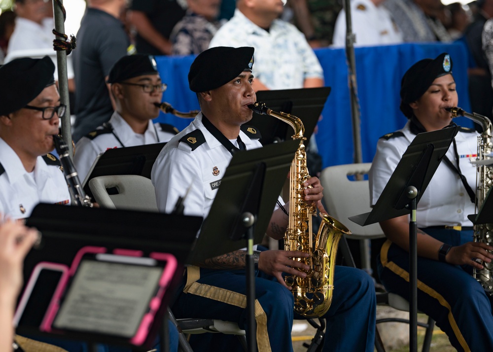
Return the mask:
[[[371,0],[351,1],[352,32],[356,35],[355,46],[374,46],[402,43],[402,34],[392,21],[384,6],[375,6]],[[337,16],[334,47],[346,45],[346,11]]]

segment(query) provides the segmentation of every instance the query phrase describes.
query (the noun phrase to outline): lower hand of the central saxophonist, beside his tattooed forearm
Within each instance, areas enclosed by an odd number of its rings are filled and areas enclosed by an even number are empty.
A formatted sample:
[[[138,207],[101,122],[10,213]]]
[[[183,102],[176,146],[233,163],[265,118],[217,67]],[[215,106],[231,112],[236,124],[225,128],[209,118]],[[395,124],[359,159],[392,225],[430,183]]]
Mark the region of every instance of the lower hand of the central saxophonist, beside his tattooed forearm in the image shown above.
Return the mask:
[[[291,289],[284,282],[282,273],[306,278],[307,274],[299,269],[308,270],[310,267],[302,261],[296,261],[292,258],[306,258],[308,253],[299,250],[265,250],[260,252],[258,260],[258,269],[262,272],[274,276],[282,286]]]

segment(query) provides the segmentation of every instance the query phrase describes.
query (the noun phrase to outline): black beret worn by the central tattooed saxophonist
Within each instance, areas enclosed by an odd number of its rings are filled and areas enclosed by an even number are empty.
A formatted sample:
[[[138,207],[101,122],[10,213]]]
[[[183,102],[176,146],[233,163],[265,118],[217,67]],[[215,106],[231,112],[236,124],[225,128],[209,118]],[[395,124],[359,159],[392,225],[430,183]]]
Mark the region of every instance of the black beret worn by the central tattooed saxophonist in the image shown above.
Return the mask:
[[[253,67],[253,48],[217,46],[201,52],[188,72],[188,85],[195,93],[219,88]]]

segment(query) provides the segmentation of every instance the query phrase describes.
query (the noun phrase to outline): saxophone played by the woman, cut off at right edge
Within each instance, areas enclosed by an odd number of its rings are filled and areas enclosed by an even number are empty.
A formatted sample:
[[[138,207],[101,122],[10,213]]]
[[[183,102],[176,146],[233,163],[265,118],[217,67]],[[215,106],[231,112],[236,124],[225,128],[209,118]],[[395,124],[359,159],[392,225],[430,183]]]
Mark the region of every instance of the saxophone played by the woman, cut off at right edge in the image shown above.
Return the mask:
[[[492,159],[490,154],[493,150],[493,129],[490,119],[477,113],[471,114],[465,112],[460,107],[449,107],[447,108],[447,110],[452,113],[452,117],[464,116],[480,124],[483,127],[483,133],[481,134],[481,136],[478,136],[478,155],[476,160],[484,161],[487,159]],[[481,209],[481,206],[486,199],[486,195],[488,194],[492,183],[492,166],[478,163],[476,174],[476,214]],[[485,243],[488,246],[493,246],[493,223],[474,225],[474,242]],[[483,269],[474,268],[472,275],[474,279],[481,283],[481,285],[489,295],[493,295],[493,262],[482,262],[481,264],[483,265]]]

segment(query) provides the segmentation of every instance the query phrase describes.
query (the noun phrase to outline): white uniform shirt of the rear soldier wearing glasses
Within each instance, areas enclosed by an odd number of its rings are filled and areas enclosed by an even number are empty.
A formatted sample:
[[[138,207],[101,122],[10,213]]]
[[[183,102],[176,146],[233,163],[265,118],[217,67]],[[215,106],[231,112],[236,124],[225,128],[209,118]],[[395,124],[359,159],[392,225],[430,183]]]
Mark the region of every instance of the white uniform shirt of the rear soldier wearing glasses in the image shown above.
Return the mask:
[[[80,181],[85,179],[96,157],[107,149],[167,142],[178,132],[178,130],[176,133],[163,131],[159,123],[153,124],[152,120],[149,120],[144,134],[135,133],[116,111],[113,112],[109,124],[113,128],[112,131],[105,129],[105,126],[100,126],[75,144],[73,163]],[[92,134],[96,137],[92,138]]]

